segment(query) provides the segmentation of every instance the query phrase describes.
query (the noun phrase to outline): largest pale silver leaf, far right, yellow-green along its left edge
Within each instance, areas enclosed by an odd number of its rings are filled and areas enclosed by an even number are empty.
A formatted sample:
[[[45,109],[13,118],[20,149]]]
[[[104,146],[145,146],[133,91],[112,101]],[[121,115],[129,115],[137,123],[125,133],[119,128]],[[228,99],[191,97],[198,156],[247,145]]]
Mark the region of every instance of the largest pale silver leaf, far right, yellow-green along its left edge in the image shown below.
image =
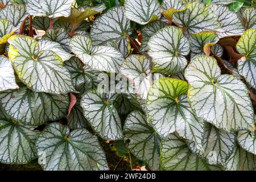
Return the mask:
[[[226,131],[253,129],[254,112],[245,84],[233,75],[221,75],[216,59],[195,57],[185,78],[189,105],[197,117]]]

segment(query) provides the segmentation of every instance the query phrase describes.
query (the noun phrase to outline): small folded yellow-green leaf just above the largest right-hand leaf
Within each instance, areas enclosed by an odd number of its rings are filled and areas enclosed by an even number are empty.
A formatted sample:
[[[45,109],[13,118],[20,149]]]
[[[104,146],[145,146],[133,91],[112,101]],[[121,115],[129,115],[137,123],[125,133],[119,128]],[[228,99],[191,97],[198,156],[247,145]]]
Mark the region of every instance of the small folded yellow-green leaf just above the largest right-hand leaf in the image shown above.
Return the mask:
[[[214,32],[191,34],[189,36],[189,42],[191,43],[191,59],[195,56],[204,55],[205,48],[217,44],[218,40],[218,35]]]

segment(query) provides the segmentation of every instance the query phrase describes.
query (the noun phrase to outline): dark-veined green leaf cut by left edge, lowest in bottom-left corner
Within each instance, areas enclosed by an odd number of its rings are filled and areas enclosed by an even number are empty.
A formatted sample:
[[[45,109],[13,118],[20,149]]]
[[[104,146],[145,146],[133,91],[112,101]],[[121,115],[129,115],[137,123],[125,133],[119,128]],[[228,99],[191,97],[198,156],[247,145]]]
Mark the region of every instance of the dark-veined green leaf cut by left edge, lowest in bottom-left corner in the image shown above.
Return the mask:
[[[35,127],[25,126],[7,117],[0,107],[0,162],[26,164],[37,158]]]

